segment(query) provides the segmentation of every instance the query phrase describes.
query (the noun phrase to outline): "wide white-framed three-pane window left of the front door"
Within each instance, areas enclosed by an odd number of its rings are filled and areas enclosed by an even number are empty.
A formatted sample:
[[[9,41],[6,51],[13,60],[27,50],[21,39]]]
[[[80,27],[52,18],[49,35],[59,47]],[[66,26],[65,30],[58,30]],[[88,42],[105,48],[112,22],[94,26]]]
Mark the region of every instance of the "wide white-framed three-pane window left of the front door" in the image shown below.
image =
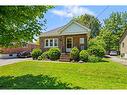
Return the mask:
[[[45,39],[45,47],[57,47],[58,46],[58,39]]]

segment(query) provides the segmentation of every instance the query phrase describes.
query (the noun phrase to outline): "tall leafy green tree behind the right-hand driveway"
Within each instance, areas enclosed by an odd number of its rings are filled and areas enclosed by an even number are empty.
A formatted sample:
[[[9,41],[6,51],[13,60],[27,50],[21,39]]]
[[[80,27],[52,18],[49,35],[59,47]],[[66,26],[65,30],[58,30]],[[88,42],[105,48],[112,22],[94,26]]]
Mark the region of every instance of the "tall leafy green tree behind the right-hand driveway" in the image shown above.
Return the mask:
[[[109,18],[104,20],[104,26],[101,29],[100,38],[106,43],[106,49],[119,50],[119,40],[127,27],[127,13],[112,13]]]

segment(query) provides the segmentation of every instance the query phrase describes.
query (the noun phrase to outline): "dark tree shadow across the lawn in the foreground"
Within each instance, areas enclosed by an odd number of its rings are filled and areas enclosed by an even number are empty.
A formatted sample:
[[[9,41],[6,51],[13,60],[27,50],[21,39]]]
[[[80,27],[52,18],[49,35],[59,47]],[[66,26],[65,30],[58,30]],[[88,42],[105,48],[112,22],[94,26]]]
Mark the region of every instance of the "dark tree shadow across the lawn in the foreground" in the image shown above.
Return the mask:
[[[48,75],[31,74],[23,76],[1,76],[0,89],[81,89],[80,87],[71,87],[69,83],[63,83],[56,77]]]

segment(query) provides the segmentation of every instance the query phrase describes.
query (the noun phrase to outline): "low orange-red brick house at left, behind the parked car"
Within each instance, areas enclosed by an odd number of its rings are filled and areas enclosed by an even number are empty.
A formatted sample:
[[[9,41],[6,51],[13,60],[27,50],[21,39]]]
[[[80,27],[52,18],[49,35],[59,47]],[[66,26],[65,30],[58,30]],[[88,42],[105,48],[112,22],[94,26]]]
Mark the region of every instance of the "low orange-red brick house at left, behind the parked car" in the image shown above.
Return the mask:
[[[14,58],[17,57],[17,53],[23,51],[32,51],[34,48],[39,48],[39,45],[29,43],[26,44],[24,47],[0,48],[0,58]]]

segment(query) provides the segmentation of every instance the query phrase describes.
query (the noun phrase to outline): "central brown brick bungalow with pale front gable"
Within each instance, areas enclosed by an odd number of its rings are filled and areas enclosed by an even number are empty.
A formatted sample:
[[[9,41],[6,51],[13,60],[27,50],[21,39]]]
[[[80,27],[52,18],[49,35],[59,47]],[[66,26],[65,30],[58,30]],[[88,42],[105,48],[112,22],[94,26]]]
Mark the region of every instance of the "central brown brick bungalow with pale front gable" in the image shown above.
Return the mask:
[[[87,27],[70,21],[62,27],[41,33],[40,47],[42,50],[58,47],[62,53],[69,53],[73,47],[83,50],[87,48],[89,33]]]

